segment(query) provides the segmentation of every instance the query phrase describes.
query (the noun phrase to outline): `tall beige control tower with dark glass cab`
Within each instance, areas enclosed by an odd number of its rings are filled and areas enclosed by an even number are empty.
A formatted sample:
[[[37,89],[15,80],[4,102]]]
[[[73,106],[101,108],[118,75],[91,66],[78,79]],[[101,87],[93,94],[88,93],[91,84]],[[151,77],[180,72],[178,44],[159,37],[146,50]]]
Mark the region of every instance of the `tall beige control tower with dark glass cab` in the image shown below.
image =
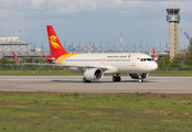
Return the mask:
[[[169,52],[171,59],[179,53],[179,33],[178,26],[180,22],[180,9],[167,9],[167,21],[169,22]]]

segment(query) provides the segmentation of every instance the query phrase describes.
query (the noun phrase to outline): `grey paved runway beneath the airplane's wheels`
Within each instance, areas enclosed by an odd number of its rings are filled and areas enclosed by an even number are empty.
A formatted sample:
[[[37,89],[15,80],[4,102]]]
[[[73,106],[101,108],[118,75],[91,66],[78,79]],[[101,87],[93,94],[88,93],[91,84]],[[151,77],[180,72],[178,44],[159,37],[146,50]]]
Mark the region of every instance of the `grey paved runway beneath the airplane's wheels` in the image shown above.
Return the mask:
[[[83,76],[0,76],[0,91],[55,92],[154,92],[192,94],[192,77],[148,77],[138,82],[122,76],[113,82],[111,76],[98,81],[82,82]]]

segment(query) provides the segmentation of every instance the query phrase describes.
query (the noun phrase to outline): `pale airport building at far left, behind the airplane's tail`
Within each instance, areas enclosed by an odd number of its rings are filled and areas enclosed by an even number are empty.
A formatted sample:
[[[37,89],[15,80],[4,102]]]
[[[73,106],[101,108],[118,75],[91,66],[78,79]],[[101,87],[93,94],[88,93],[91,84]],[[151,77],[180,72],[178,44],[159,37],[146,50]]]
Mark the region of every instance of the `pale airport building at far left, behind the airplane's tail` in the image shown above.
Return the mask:
[[[14,37],[0,37],[0,52],[29,52],[31,44],[23,42],[19,36]]]

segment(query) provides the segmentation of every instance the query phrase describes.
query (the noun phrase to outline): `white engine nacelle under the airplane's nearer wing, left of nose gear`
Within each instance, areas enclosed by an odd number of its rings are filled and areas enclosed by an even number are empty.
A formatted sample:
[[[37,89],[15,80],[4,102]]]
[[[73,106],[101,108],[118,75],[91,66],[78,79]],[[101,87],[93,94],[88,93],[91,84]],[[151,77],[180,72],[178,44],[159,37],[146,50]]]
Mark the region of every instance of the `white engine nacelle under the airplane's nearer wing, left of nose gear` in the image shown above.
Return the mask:
[[[98,68],[87,68],[84,72],[84,77],[87,80],[97,80],[100,79],[103,76],[104,76],[103,70]]]

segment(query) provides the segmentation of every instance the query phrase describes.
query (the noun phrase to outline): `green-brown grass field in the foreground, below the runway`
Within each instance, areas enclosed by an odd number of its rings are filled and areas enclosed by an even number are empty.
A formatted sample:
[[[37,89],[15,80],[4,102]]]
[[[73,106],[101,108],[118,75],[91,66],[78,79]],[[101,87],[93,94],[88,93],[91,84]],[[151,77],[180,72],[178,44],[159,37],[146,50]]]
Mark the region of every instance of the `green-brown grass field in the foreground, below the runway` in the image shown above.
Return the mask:
[[[191,132],[192,95],[0,91],[0,131]]]

